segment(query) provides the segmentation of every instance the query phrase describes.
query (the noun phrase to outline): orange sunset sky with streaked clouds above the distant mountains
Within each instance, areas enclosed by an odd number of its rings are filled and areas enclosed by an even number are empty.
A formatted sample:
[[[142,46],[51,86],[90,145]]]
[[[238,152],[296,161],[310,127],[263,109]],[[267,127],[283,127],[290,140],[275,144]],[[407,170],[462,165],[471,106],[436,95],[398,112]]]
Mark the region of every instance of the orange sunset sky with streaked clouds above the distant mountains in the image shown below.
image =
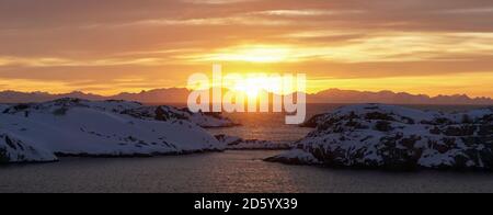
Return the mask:
[[[194,72],[493,97],[491,0],[0,0],[0,90],[113,94]]]

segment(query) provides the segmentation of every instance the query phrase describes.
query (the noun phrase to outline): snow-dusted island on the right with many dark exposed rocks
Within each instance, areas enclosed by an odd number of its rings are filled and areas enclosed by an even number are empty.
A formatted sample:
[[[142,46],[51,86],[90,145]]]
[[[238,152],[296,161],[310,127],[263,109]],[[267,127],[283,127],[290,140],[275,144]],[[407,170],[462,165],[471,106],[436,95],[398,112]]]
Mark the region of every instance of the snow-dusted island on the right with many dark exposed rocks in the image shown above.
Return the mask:
[[[268,158],[291,165],[387,170],[493,170],[493,109],[442,113],[362,104],[317,115],[295,149]]]

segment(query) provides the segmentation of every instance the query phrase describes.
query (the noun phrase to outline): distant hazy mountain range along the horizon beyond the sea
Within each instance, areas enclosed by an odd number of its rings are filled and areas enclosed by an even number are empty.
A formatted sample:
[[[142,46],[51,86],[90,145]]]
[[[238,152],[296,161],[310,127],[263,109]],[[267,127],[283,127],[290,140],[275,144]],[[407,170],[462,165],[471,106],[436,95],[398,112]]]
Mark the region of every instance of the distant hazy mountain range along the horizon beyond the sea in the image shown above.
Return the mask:
[[[0,103],[44,102],[60,98],[79,98],[87,100],[127,100],[142,103],[175,104],[186,103],[190,90],[184,88],[156,89],[139,93],[123,92],[104,97],[92,93],[70,92],[51,94],[47,92],[0,92]],[[314,94],[307,94],[308,103],[387,103],[387,104],[470,104],[493,105],[491,98],[470,98],[466,94],[429,97],[405,92],[368,92],[330,89]]]

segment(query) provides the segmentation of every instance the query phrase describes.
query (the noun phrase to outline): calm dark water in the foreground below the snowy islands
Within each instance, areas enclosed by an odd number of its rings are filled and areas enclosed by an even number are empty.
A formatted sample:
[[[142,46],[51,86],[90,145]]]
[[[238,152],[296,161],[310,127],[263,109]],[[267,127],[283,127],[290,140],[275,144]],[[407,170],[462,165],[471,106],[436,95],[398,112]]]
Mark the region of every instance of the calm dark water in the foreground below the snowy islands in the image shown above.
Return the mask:
[[[65,158],[0,167],[0,192],[493,192],[493,174],[381,172],[262,161],[279,151]]]

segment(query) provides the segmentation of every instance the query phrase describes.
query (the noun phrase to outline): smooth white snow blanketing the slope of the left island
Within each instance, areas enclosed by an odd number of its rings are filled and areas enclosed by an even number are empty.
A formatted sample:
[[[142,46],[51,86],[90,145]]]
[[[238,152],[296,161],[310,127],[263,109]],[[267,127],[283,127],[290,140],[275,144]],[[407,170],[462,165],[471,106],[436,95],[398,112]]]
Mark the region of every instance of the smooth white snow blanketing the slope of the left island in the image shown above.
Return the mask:
[[[53,155],[152,156],[225,149],[195,123],[124,113],[138,108],[141,104],[135,102],[78,99],[19,104],[0,114],[0,129]]]

